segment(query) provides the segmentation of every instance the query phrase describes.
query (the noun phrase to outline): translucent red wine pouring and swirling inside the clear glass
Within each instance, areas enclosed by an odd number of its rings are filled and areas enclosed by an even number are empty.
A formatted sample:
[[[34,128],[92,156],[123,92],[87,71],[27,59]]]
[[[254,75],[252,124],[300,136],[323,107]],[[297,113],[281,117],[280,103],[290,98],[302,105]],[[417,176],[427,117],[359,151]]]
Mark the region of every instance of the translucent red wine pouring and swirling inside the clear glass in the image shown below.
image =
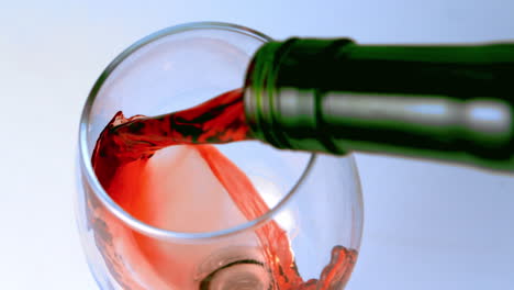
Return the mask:
[[[121,112],[116,113],[100,134],[92,155],[92,165],[107,192],[134,217],[163,228],[174,224],[174,228],[167,228],[174,231],[221,230],[226,227],[226,224],[215,222],[221,219],[220,214],[232,214],[238,216],[234,217],[235,220],[244,222],[269,211],[249,178],[215,147],[208,144],[250,137],[250,131],[245,123],[242,90],[234,90],[192,109],[156,118],[136,115],[125,119]],[[192,171],[194,176],[191,177]],[[155,181],[156,176],[164,178]],[[205,182],[206,186],[202,187]],[[159,186],[155,186],[156,183]],[[174,193],[156,197],[153,191],[161,190],[166,187],[165,183],[172,188]],[[213,192],[210,202],[222,203],[219,207],[224,209],[223,213],[213,212],[209,221],[202,223],[188,220],[182,222],[186,228],[177,228],[180,226],[179,213],[156,213],[164,203],[177,203],[178,200],[181,204],[191,202],[201,208],[195,201],[187,201],[192,197],[185,196],[194,196],[194,192],[206,190]],[[228,198],[216,196],[223,192]],[[211,214],[212,208],[215,207],[202,209],[197,215],[198,219]],[[137,285],[142,280],[149,288],[156,289],[189,287],[167,274],[170,265],[180,261],[177,253],[183,254],[185,249],[177,250],[175,256],[170,255],[170,248],[165,249],[163,245],[156,244],[158,242],[155,239],[130,231],[107,212],[93,214],[107,221],[102,224],[107,234],[103,233],[103,237],[97,238],[97,244],[104,258],[111,263],[111,274],[125,286],[124,288],[139,289]],[[126,239],[133,243],[118,242],[116,245],[111,238],[113,235],[118,235],[116,241]],[[287,233],[277,222],[267,222],[258,227],[255,236],[262,261],[248,263],[266,265],[273,280],[270,289],[339,289],[346,285],[357,256],[356,250],[336,246],[332,253],[332,260],[321,274],[320,280],[304,282],[297,270]],[[134,272],[124,265],[120,250],[123,250],[124,258],[137,264],[142,269],[136,279],[133,278]],[[179,263],[177,268],[186,269],[186,264]],[[187,278],[190,279],[183,279]],[[209,276],[209,279],[212,278]],[[200,289],[209,289],[209,280],[202,281]]]

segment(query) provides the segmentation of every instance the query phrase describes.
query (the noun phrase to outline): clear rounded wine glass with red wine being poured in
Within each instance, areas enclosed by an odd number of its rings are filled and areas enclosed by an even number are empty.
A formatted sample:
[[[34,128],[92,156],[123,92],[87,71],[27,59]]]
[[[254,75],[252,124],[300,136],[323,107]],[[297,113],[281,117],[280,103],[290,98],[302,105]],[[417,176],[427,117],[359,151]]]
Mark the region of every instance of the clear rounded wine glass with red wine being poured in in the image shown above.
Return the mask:
[[[143,221],[109,196],[91,166],[96,141],[118,111],[158,115],[242,87],[252,55],[269,41],[226,23],[168,27],[125,49],[94,83],[80,121],[76,212],[101,289],[345,287],[362,231],[351,155],[280,150],[257,141],[215,145],[266,203],[255,219],[245,219],[230,197],[211,197],[204,168],[180,171],[170,161],[163,168],[174,170],[147,178],[159,192],[149,211],[165,217]],[[170,180],[185,177],[198,182],[188,198],[170,200]]]

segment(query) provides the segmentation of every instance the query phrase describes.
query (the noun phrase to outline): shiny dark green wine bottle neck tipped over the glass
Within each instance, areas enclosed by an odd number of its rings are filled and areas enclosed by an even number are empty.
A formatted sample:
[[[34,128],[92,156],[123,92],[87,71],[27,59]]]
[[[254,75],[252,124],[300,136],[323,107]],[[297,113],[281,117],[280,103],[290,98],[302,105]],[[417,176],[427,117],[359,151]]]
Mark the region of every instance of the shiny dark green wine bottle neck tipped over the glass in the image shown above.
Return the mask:
[[[370,152],[514,170],[514,44],[265,44],[247,71],[254,136],[278,148]]]

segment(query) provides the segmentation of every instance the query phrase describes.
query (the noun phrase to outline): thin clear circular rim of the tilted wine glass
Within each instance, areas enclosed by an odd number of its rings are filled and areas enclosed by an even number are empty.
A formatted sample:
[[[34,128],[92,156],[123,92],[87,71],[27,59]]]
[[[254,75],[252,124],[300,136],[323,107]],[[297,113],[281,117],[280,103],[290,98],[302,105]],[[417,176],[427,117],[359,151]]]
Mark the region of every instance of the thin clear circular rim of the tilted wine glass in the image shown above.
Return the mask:
[[[235,226],[226,227],[223,230],[217,230],[217,231],[210,231],[210,232],[198,232],[198,233],[189,233],[189,232],[176,232],[176,231],[169,231],[169,230],[164,230],[160,227],[153,226],[150,224],[147,224],[143,221],[139,221],[138,219],[134,217],[132,214],[130,214],[127,211],[125,211],[123,208],[121,208],[103,189],[103,187],[100,185],[100,181],[97,178],[97,175],[94,174],[94,170],[91,165],[91,155],[89,154],[89,147],[87,144],[87,137],[88,137],[88,124],[90,120],[90,113],[91,113],[91,108],[92,103],[96,100],[96,97],[98,92],[100,91],[102,85],[105,82],[105,80],[109,78],[112,71],[128,56],[131,56],[133,53],[142,48],[143,46],[155,42],[157,40],[160,40],[165,36],[171,35],[171,34],[177,34],[186,31],[192,31],[192,30],[222,30],[222,31],[231,31],[231,32],[236,32],[241,34],[248,35],[250,37],[257,38],[262,41],[262,43],[270,42],[272,41],[271,37],[267,36],[264,33],[260,33],[258,31],[242,26],[242,25],[236,25],[232,23],[224,23],[224,22],[190,22],[190,23],[185,23],[185,24],[179,24],[175,26],[169,26],[166,29],[163,29],[160,31],[157,31],[155,33],[152,33],[142,40],[135,42],[131,46],[128,46],[126,49],[124,49],[120,55],[118,55],[108,66],[107,68],[102,71],[100,77],[97,79],[94,82],[88,99],[86,100],[86,103],[82,109],[82,114],[80,116],[80,126],[79,126],[79,163],[80,163],[80,168],[85,172],[87,177],[87,182],[91,187],[93,194],[100,200],[100,202],[108,209],[109,212],[111,212],[114,216],[120,219],[124,224],[130,226],[131,228],[157,238],[157,239],[168,239],[168,241],[178,241],[181,243],[202,243],[205,241],[211,241],[211,239],[216,239],[216,238],[223,238],[226,236],[232,236],[238,233],[243,233],[245,231],[252,230],[252,228],[257,228],[258,226],[262,225],[265,222],[271,220],[273,216],[276,216],[278,213],[281,212],[281,210],[286,207],[288,201],[294,196],[294,193],[298,191],[298,189],[302,186],[306,177],[309,176],[312,167],[314,166],[315,159],[316,159],[316,154],[311,153],[311,156],[309,158],[309,161],[303,169],[303,172],[300,175],[298,178],[297,182],[294,186],[284,194],[283,197],[280,198],[280,201],[275,204],[272,208],[270,208],[265,214],[247,221],[245,223],[237,224]]]

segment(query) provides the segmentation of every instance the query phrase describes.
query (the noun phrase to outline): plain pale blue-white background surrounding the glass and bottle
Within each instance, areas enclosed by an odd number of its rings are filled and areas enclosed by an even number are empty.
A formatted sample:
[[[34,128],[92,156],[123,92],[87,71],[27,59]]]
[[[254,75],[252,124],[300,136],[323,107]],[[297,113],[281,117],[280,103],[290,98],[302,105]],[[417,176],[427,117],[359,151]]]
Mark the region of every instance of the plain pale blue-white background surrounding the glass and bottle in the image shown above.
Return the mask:
[[[2,1],[0,289],[96,289],[72,212],[81,107],[126,46],[205,20],[275,38],[514,41],[511,0]],[[357,160],[366,222],[347,289],[514,289],[514,178]]]

